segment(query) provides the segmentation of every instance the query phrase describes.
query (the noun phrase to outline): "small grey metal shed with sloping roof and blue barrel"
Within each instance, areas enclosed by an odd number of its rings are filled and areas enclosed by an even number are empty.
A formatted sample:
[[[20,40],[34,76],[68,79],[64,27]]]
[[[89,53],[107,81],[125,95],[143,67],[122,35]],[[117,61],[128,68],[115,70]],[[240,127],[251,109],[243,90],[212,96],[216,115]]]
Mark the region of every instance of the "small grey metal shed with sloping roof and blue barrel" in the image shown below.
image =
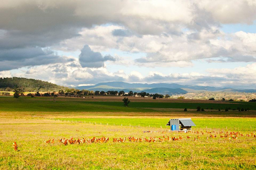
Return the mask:
[[[178,119],[170,119],[166,126],[170,126],[170,130],[172,131],[185,131],[192,130],[192,126],[196,126],[195,123],[191,120],[191,118],[178,118]]]

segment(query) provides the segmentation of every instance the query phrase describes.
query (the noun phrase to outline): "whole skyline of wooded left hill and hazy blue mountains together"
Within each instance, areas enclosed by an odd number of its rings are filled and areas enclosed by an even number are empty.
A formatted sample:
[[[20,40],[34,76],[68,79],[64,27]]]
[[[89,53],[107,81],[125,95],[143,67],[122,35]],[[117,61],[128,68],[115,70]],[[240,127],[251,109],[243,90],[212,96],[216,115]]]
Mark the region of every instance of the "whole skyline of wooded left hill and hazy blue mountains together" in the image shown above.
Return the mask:
[[[56,84],[49,83],[47,81],[27,79],[20,77],[12,78],[0,78],[0,91],[12,91],[14,89],[22,89],[23,91],[59,91],[65,90],[68,87],[58,86]],[[180,85],[176,83],[153,83],[153,84],[142,84],[142,83],[126,83],[122,81],[112,81],[106,83],[98,83],[93,86],[79,86],[69,87],[75,89],[87,89],[93,91],[121,91],[128,93],[129,91],[141,92],[145,91],[150,94],[186,94],[191,92],[200,91],[220,91],[220,92],[246,92],[256,93],[255,89],[232,89],[232,88],[216,88],[210,86],[190,86]]]

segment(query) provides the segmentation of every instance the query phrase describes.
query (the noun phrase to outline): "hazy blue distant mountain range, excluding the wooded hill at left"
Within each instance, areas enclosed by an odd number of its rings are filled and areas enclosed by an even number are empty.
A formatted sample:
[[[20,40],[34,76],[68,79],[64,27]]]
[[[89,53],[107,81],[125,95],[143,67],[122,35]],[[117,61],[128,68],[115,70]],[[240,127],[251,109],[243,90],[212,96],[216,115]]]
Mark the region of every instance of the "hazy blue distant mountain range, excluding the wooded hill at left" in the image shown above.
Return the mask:
[[[111,81],[106,83],[98,83],[92,86],[78,86],[76,89],[87,89],[93,91],[121,91],[124,92],[141,92],[145,91],[147,93],[159,93],[159,94],[185,94],[190,92],[199,91],[222,91],[222,92],[246,92],[246,93],[256,93],[255,89],[232,89],[232,88],[216,88],[210,86],[190,86],[190,85],[180,85],[176,83],[152,83],[152,84],[142,84],[142,83],[126,83],[122,81]]]

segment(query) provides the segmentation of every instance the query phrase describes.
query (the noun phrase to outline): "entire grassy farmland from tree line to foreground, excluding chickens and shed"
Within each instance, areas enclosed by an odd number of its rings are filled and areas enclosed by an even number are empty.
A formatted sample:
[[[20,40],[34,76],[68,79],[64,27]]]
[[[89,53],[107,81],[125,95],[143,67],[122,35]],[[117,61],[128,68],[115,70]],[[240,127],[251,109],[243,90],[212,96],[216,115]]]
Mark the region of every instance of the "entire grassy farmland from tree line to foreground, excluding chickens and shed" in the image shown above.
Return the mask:
[[[117,102],[90,103],[81,100],[83,99],[60,97],[53,103],[45,97],[18,100],[0,97],[0,169],[256,168],[256,138],[246,136],[256,132],[255,111],[209,110],[198,113],[193,109],[183,112],[183,109],[171,108],[172,102],[169,103],[170,108],[161,108],[164,106],[161,102],[158,103],[161,107],[155,105],[156,108],[153,108],[154,104],[149,102],[140,102],[141,107],[132,106],[135,102],[130,107],[124,107],[117,105]],[[144,107],[147,106],[145,103],[152,105]],[[181,102],[174,104],[177,103]],[[193,131],[199,131],[199,134],[169,132],[170,126],[165,126],[172,117],[188,116],[196,124]],[[238,118],[239,116],[247,118]],[[142,133],[146,130],[158,132]],[[206,131],[211,131],[217,137],[207,140],[209,134]],[[238,136],[236,140],[226,140],[220,138],[220,131],[239,131],[244,136]],[[113,143],[113,138],[119,137],[158,139],[163,138],[163,135],[183,138],[168,142],[157,140],[156,143]],[[188,135],[191,138],[188,139]],[[194,141],[198,135],[200,139]],[[105,136],[110,140],[103,144],[67,146],[57,142],[57,139],[64,137],[77,139],[93,136]],[[45,140],[53,138],[54,144],[44,143]],[[13,150],[14,141],[17,142],[19,151]]]

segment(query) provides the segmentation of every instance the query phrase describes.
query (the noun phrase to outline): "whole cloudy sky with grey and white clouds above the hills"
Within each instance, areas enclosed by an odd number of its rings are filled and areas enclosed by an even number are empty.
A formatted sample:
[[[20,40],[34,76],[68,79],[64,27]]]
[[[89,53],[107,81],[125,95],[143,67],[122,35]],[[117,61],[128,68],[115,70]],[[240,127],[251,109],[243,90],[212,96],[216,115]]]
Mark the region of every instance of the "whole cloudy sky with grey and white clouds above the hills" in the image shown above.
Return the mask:
[[[15,0],[0,5],[0,77],[256,84],[255,0]]]

